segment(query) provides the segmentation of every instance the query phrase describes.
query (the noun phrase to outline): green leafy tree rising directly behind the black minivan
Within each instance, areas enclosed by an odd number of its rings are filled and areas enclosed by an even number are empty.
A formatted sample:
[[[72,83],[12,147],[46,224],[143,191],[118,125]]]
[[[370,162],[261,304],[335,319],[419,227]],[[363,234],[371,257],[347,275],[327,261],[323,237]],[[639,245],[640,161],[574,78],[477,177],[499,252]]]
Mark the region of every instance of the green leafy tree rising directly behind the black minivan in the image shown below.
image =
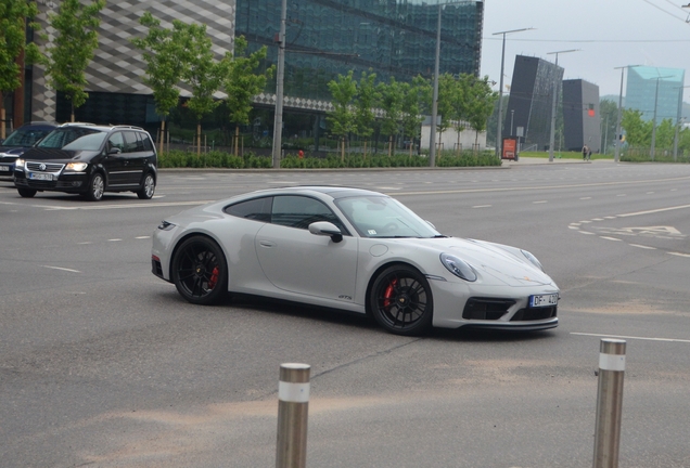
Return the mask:
[[[46,75],[48,84],[62,91],[74,109],[80,107],[89,94],[85,70],[99,47],[98,28],[100,12],[105,0],[93,0],[82,4],[79,0],[63,0],[56,14],[48,15],[48,24],[55,30],[52,44],[46,48]]]

